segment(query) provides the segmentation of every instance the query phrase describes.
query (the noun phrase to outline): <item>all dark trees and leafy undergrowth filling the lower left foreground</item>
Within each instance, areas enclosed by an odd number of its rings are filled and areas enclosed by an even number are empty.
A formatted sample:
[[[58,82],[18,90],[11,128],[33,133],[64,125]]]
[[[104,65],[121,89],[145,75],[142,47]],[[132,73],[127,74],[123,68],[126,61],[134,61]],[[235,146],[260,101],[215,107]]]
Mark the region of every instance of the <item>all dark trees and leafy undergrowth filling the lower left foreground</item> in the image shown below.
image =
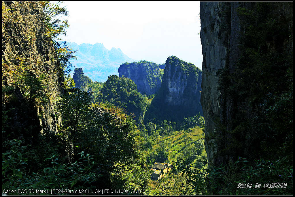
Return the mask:
[[[142,167],[141,138],[132,118],[114,106],[91,105],[89,93],[65,91],[55,106],[63,117],[57,136],[35,134],[37,142],[30,150],[26,149],[28,145],[21,146],[27,144],[25,141],[4,142],[3,185],[11,190],[31,185],[46,189],[81,185],[89,189],[146,189],[148,175]],[[6,129],[4,135],[9,133],[5,137],[10,138],[11,130]],[[51,166],[44,162],[48,159]]]

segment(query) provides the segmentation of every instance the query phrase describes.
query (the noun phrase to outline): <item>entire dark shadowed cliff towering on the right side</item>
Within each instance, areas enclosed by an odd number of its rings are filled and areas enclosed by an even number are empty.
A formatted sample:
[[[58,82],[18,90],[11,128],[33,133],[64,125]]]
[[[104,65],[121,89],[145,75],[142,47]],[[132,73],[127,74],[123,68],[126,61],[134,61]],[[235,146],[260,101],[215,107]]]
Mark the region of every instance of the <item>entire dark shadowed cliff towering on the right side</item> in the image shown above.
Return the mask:
[[[292,2],[201,2],[209,164],[292,152]]]

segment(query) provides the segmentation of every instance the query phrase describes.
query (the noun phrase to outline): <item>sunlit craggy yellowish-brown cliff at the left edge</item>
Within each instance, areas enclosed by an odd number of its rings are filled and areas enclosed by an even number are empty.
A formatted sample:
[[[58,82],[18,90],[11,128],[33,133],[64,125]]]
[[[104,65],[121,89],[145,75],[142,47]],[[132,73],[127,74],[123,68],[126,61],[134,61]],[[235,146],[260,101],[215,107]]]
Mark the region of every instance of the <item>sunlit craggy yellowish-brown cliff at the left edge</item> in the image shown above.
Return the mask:
[[[61,120],[53,105],[63,78],[43,17],[40,2],[2,1],[2,110],[13,117],[10,129],[28,137],[57,133]]]

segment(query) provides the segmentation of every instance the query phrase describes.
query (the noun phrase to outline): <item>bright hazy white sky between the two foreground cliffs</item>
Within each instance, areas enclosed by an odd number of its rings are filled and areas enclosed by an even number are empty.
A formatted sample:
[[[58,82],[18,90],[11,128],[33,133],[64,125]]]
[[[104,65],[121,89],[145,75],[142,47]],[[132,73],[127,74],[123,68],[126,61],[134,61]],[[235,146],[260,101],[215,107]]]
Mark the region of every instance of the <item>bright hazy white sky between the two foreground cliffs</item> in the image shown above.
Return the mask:
[[[202,67],[199,1],[64,1],[62,6],[69,12],[62,40],[103,43],[158,64],[174,55]]]

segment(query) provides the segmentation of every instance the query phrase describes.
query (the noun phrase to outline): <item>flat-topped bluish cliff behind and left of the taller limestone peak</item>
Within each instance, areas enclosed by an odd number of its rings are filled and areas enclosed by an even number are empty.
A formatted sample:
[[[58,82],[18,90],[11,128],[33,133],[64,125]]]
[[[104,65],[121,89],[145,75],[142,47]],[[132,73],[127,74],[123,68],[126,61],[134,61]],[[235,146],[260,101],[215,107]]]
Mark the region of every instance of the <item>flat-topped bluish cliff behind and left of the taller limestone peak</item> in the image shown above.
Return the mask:
[[[155,94],[161,85],[163,70],[153,62],[141,61],[124,63],[119,69],[119,77],[130,78],[141,94]]]

